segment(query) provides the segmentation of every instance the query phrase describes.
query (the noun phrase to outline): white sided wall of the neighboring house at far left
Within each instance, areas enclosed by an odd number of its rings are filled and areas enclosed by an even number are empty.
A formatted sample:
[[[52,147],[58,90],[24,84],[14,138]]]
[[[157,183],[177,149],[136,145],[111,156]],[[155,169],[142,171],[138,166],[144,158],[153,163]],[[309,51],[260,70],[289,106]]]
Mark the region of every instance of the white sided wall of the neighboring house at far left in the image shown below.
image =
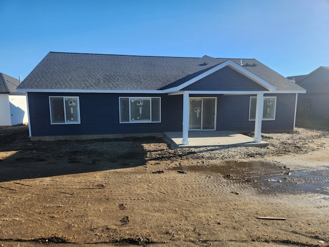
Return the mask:
[[[27,123],[27,106],[25,95],[9,95],[11,125]]]

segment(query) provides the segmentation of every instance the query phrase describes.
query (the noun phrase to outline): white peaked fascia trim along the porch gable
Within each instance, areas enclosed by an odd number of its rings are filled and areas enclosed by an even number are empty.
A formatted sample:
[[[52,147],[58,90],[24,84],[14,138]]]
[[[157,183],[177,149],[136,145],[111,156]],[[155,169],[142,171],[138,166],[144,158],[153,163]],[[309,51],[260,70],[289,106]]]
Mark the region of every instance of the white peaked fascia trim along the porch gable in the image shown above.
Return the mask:
[[[218,64],[217,66],[207,70],[205,73],[198,75],[198,76],[194,77],[193,79],[180,84],[179,86],[175,86],[175,87],[172,87],[171,89],[163,90],[163,92],[170,93],[170,92],[179,91],[181,89],[184,89],[184,87],[187,87],[187,86],[191,85],[192,83],[194,83],[206,76],[209,76],[212,73],[216,72],[217,70],[220,70],[221,68],[224,68],[226,66],[234,69],[236,72],[239,72],[240,74],[244,75],[245,77],[249,78],[250,80],[260,84],[261,86],[265,87],[265,89],[267,89],[269,91],[276,90],[276,87],[273,86],[271,83],[265,81],[264,79],[260,78],[259,76],[255,75],[255,74],[251,73],[249,70],[247,70],[244,67],[242,67],[241,65],[233,62],[232,60],[227,60],[224,63]]]

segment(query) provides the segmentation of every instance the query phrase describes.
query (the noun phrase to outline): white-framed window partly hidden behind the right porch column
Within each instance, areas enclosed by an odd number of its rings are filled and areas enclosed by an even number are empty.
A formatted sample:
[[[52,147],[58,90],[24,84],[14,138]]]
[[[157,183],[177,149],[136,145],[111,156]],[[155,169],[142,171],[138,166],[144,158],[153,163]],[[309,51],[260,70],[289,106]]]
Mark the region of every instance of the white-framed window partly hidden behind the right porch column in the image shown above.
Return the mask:
[[[256,102],[257,102],[257,97],[250,97],[249,120],[256,119]],[[277,97],[264,97],[262,120],[275,120],[276,104],[277,104]]]

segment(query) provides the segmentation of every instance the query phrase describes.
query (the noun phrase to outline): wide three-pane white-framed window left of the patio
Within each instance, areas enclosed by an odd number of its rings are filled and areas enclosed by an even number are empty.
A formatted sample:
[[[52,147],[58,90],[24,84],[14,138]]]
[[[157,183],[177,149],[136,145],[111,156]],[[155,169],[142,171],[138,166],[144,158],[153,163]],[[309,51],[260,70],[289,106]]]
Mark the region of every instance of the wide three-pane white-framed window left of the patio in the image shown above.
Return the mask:
[[[120,123],[160,122],[160,97],[120,97]]]

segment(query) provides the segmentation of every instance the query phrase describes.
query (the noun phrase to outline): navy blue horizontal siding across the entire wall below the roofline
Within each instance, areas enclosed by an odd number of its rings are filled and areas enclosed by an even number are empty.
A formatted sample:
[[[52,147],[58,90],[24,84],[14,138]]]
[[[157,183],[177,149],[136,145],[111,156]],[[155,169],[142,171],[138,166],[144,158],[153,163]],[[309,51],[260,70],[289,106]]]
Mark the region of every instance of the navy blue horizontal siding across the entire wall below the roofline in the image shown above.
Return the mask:
[[[51,94],[50,96],[79,96],[81,124],[50,125],[49,94],[28,93],[32,136],[103,135],[161,133],[182,131],[182,95],[165,94]],[[119,97],[161,97],[161,122],[119,123]],[[254,95],[190,95],[217,97],[216,130],[254,131],[249,121],[249,98]],[[296,94],[277,96],[276,120],[263,121],[262,131],[291,131],[294,128]]]

